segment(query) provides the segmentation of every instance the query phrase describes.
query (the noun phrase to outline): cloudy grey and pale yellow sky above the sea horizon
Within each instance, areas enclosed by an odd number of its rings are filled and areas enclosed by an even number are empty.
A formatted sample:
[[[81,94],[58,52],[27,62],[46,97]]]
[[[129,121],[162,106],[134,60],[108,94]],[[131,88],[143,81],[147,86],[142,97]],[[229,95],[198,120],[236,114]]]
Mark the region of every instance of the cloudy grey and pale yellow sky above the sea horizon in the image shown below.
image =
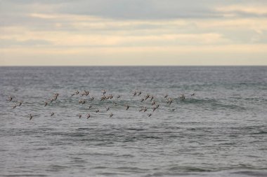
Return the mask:
[[[267,65],[266,0],[0,0],[0,66]]]

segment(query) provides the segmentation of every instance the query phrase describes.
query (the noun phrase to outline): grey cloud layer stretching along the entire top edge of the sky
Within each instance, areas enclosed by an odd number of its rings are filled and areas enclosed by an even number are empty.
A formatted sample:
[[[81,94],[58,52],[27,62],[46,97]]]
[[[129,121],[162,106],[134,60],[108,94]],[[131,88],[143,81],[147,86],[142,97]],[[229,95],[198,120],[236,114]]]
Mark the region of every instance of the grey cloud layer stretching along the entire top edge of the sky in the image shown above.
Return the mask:
[[[249,0],[2,0],[0,1],[0,9],[2,13],[69,13],[124,20],[159,20],[174,18],[218,18],[223,17],[223,13],[214,10],[214,6],[249,3],[251,3]],[[253,4],[267,5],[267,2],[256,0],[253,1]],[[245,17],[247,15],[251,17],[255,15],[252,13],[235,13]],[[256,17],[259,17],[259,15]]]

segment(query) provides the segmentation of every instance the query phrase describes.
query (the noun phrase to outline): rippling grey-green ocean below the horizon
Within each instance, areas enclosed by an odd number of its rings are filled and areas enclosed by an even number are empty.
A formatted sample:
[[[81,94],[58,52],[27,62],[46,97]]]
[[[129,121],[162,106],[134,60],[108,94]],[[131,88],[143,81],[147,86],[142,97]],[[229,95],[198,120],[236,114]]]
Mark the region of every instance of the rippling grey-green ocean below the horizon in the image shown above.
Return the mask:
[[[267,66],[0,67],[0,176],[267,176]]]

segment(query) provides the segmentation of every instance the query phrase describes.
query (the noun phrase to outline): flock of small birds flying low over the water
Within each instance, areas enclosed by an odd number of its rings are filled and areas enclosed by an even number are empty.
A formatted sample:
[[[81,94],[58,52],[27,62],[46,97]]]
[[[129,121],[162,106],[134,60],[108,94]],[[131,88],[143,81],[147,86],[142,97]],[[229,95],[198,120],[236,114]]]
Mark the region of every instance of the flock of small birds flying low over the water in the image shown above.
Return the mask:
[[[78,90],[74,93],[72,93],[70,95],[70,97],[75,97],[75,96],[81,96],[82,99],[79,99],[79,104],[86,104],[87,101],[94,101],[94,100],[97,100],[97,101],[105,101],[105,100],[115,100],[115,101],[112,101],[112,106],[117,106],[117,102],[116,100],[119,100],[122,98],[122,95],[117,95],[117,97],[115,97],[113,94],[106,94],[107,92],[105,90],[101,90],[102,92],[102,96],[100,97],[100,99],[95,99],[95,97],[91,96],[90,92],[88,90],[84,90],[82,92],[79,92]],[[51,99],[47,99],[46,101],[44,101],[44,107],[48,106],[48,104],[51,104],[53,101],[56,101],[59,97],[59,93],[56,93],[56,94],[53,94],[53,96],[51,97]],[[195,93],[193,94],[190,94],[191,97],[195,96]],[[84,97],[86,97],[86,99],[84,99]],[[88,98],[89,97],[89,98]],[[143,94],[142,91],[140,90],[134,90],[131,94],[131,97],[141,97],[141,99],[138,99],[140,101],[140,103],[145,103],[146,104],[149,104],[151,105],[152,107],[151,108],[147,108],[146,106],[142,106],[141,108],[139,108],[139,112],[146,112],[148,111],[149,109],[152,110],[152,112],[156,111],[157,108],[159,108],[159,104],[158,104],[158,100],[155,99],[154,96],[152,96],[152,94]],[[17,108],[18,106],[22,106],[22,103],[23,101],[16,101],[14,99],[15,97],[13,96],[9,96],[7,101],[11,101],[13,103],[15,103],[15,105],[12,106],[12,108]],[[162,97],[162,99],[164,99],[164,102],[167,104],[167,105],[171,105],[174,101],[173,98],[169,97],[168,94],[165,94],[164,97]],[[181,99],[182,101],[185,100],[185,94],[181,94],[181,96],[179,97],[179,99]],[[147,101],[148,100],[148,101]],[[150,102],[149,102],[150,101]],[[149,103],[148,103],[149,102]],[[126,104],[124,105],[125,106],[125,110],[128,111],[130,106],[129,104]],[[93,109],[93,106],[92,105],[89,105],[88,109],[92,110]],[[171,111],[174,111],[175,109],[172,108]],[[100,109],[99,108],[96,108],[95,113],[99,113],[100,112]],[[105,112],[109,112],[109,117],[111,118],[114,114],[112,112],[110,112],[110,106],[107,106],[105,108]],[[54,112],[52,112],[50,114],[51,117],[55,116],[56,114]],[[148,117],[151,117],[152,116],[152,113],[148,113],[147,114]],[[34,118],[34,115],[32,113],[30,113],[29,115],[26,115],[28,118],[30,118],[30,120],[32,120],[32,118]],[[82,118],[82,114],[78,114],[77,115],[79,118]],[[91,113],[87,113],[86,114],[86,118],[89,119],[91,118]]]

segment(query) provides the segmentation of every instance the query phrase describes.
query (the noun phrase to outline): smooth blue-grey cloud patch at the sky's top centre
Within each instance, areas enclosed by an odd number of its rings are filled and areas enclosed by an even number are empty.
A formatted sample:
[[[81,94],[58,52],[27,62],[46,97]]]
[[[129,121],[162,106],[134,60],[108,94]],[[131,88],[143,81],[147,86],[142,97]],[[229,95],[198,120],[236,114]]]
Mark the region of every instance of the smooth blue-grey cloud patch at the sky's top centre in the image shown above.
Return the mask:
[[[221,17],[201,1],[155,1],[155,0],[98,0],[64,3],[60,6],[61,13],[96,15],[116,19],[171,19]]]

